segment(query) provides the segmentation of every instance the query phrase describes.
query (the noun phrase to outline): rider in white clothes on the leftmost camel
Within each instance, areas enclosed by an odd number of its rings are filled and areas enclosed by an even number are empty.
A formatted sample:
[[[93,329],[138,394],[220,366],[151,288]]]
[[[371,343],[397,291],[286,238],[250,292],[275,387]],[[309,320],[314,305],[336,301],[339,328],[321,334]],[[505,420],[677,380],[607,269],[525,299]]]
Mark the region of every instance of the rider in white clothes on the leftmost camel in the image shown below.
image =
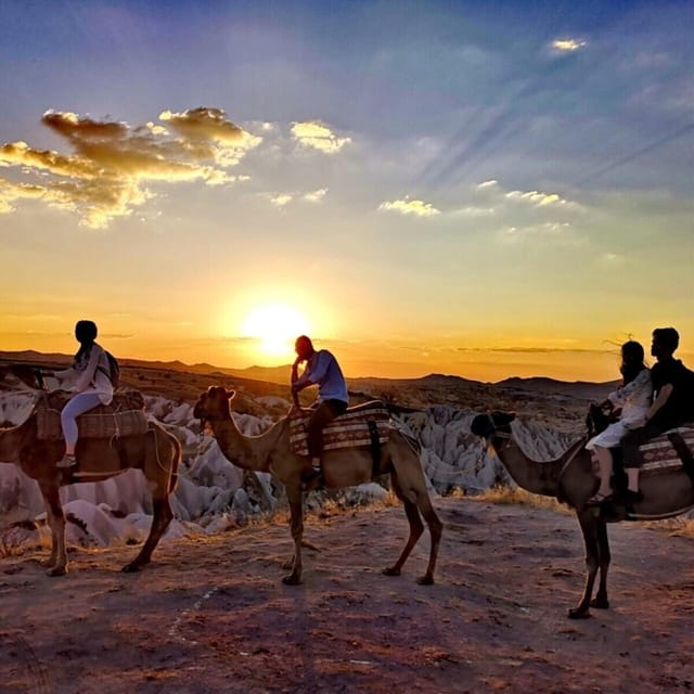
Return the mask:
[[[79,343],[79,349],[73,359],[73,365],[53,373],[61,388],[75,391],[61,412],[65,455],[57,461],[57,467],[72,467],[76,464],[77,417],[99,404],[111,404],[113,400],[111,360],[104,348],[94,342],[97,334],[94,322],[78,321],[75,325],[75,339]]]

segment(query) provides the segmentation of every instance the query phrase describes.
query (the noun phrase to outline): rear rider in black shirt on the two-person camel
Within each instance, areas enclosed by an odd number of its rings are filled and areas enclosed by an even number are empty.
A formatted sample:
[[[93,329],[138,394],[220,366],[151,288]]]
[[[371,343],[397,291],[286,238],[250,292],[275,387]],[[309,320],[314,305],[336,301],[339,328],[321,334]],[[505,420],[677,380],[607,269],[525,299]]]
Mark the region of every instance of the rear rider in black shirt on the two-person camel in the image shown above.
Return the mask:
[[[653,331],[651,355],[657,363],[651,369],[654,399],[643,426],[632,429],[622,439],[624,462],[629,490],[627,501],[641,500],[638,487],[643,455],[639,447],[668,429],[694,420],[694,373],[673,355],[680,344],[674,327]]]

